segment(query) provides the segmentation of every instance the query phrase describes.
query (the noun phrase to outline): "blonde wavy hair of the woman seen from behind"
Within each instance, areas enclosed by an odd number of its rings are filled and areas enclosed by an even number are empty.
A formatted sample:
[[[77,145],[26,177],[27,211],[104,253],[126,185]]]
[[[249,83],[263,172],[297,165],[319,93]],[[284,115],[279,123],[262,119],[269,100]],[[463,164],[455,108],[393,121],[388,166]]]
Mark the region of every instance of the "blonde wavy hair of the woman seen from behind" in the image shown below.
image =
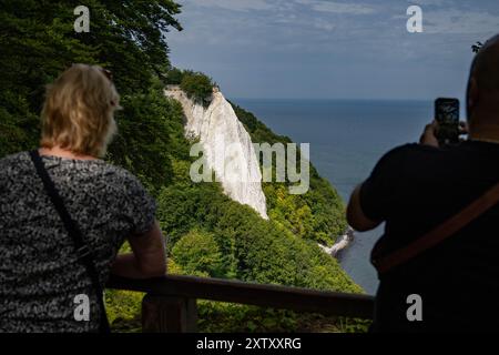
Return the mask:
[[[116,132],[119,102],[120,95],[101,67],[73,64],[47,88],[40,145],[104,156]]]

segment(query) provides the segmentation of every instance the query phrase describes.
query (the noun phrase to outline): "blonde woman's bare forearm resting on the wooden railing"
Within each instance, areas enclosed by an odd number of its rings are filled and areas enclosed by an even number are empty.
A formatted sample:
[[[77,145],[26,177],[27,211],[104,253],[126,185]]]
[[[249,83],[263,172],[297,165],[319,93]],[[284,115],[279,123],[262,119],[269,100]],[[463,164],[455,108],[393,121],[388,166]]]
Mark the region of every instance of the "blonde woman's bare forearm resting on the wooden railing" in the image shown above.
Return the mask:
[[[133,253],[116,256],[111,273],[130,278],[149,278],[166,273],[164,239],[157,222],[142,234],[129,236]]]

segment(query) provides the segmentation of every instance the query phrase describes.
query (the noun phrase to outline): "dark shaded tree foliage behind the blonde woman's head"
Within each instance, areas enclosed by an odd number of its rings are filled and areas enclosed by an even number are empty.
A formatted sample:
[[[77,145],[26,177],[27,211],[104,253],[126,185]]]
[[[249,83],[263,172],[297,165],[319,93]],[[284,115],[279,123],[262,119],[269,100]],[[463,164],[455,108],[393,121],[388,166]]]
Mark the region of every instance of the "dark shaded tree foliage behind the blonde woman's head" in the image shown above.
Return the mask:
[[[90,32],[77,33],[73,10],[79,4],[27,0],[20,6],[19,1],[2,1],[0,154],[37,145],[39,112],[48,83],[72,63],[100,64],[113,72],[125,108],[118,120],[122,133],[111,146],[110,158],[147,176],[145,182],[157,187],[171,165],[164,153],[169,132],[157,110],[172,118],[169,110],[174,109],[165,109],[170,104],[159,101],[162,90],[155,83],[171,68],[165,33],[181,29],[174,19],[180,6],[170,0],[90,0],[85,3],[91,10]],[[151,142],[154,132],[159,134]]]

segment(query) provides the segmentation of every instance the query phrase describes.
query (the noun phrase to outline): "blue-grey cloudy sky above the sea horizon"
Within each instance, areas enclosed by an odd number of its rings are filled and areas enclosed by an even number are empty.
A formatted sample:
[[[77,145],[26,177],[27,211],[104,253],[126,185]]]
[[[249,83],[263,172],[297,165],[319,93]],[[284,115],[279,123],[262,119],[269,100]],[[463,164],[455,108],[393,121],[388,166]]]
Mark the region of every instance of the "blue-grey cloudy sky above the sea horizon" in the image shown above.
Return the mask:
[[[172,63],[230,98],[464,97],[470,45],[499,32],[497,0],[179,0]],[[407,8],[422,9],[409,33]]]

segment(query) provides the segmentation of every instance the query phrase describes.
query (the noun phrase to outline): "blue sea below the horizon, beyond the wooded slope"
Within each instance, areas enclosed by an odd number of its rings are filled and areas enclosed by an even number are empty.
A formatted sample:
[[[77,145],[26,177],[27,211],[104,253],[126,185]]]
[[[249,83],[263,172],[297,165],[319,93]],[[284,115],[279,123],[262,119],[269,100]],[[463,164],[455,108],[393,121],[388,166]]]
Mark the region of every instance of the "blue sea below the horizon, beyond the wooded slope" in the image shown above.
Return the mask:
[[[416,142],[432,118],[428,101],[255,100],[234,99],[278,134],[310,144],[310,159],[344,201],[370,173],[379,158],[396,145]],[[383,227],[356,233],[340,255],[345,271],[374,294],[378,284],[369,263]]]

